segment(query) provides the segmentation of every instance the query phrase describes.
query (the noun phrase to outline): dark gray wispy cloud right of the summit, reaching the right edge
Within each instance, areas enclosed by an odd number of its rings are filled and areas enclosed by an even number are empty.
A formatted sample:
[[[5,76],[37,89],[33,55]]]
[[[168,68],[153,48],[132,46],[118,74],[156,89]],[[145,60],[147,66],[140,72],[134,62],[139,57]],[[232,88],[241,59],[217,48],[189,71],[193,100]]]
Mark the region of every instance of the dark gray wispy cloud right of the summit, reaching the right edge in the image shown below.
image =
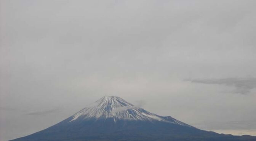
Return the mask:
[[[251,92],[251,89],[256,88],[256,78],[254,77],[222,79],[186,79],[186,81],[190,81],[192,83],[233,86],[235,87],[233,93],[238,94],[248,94]]]

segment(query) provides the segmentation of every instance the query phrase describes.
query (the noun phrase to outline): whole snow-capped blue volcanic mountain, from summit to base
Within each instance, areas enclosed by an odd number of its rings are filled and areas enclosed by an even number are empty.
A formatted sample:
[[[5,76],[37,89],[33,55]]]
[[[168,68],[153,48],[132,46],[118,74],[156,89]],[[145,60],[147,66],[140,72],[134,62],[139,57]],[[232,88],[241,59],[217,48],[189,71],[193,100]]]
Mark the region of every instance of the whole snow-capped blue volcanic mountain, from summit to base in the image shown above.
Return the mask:
[[[104,96],[45,130],[12,141],[256,141],[200,130],[120,97]]]

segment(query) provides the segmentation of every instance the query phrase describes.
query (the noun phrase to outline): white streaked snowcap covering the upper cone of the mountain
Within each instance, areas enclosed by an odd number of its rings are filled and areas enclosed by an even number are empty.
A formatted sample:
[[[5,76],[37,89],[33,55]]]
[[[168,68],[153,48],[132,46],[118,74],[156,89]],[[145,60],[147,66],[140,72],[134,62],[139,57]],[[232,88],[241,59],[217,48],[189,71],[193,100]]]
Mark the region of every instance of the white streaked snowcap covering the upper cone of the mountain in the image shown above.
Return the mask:
[[[115,96],[104,96],[93,104],[74,114],[72,117],[73,119],[69,122],[73,122],[78,118],[82,118],[84,120],[90,118],[114,118],[114,121],[116,121],[117,119],[152,122],[162,121],[171,124],[192,127],[172,118],[171,116],[158,116],[157,114],[150,113],[143,108],[135,107],[133,104],[128,103],[120,97]]]

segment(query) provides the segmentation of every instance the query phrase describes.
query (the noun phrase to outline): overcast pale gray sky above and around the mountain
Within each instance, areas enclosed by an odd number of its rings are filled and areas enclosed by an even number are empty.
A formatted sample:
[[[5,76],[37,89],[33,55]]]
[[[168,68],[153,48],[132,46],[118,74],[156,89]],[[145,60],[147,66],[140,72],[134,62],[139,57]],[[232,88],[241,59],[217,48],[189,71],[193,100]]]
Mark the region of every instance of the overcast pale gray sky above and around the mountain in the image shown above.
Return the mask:
[[[255,0],[0,0],[0,141],[104,95],[256,135]]]

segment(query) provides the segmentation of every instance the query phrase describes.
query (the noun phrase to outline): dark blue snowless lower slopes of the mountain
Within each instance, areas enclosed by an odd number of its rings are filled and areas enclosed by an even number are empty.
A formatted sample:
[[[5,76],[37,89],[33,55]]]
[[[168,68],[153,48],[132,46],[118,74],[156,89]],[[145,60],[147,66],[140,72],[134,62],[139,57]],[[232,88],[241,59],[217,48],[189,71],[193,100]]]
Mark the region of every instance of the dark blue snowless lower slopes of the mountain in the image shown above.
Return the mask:
[[[90,119],[59,124],[12,141],[256,141],[163,122]]]

